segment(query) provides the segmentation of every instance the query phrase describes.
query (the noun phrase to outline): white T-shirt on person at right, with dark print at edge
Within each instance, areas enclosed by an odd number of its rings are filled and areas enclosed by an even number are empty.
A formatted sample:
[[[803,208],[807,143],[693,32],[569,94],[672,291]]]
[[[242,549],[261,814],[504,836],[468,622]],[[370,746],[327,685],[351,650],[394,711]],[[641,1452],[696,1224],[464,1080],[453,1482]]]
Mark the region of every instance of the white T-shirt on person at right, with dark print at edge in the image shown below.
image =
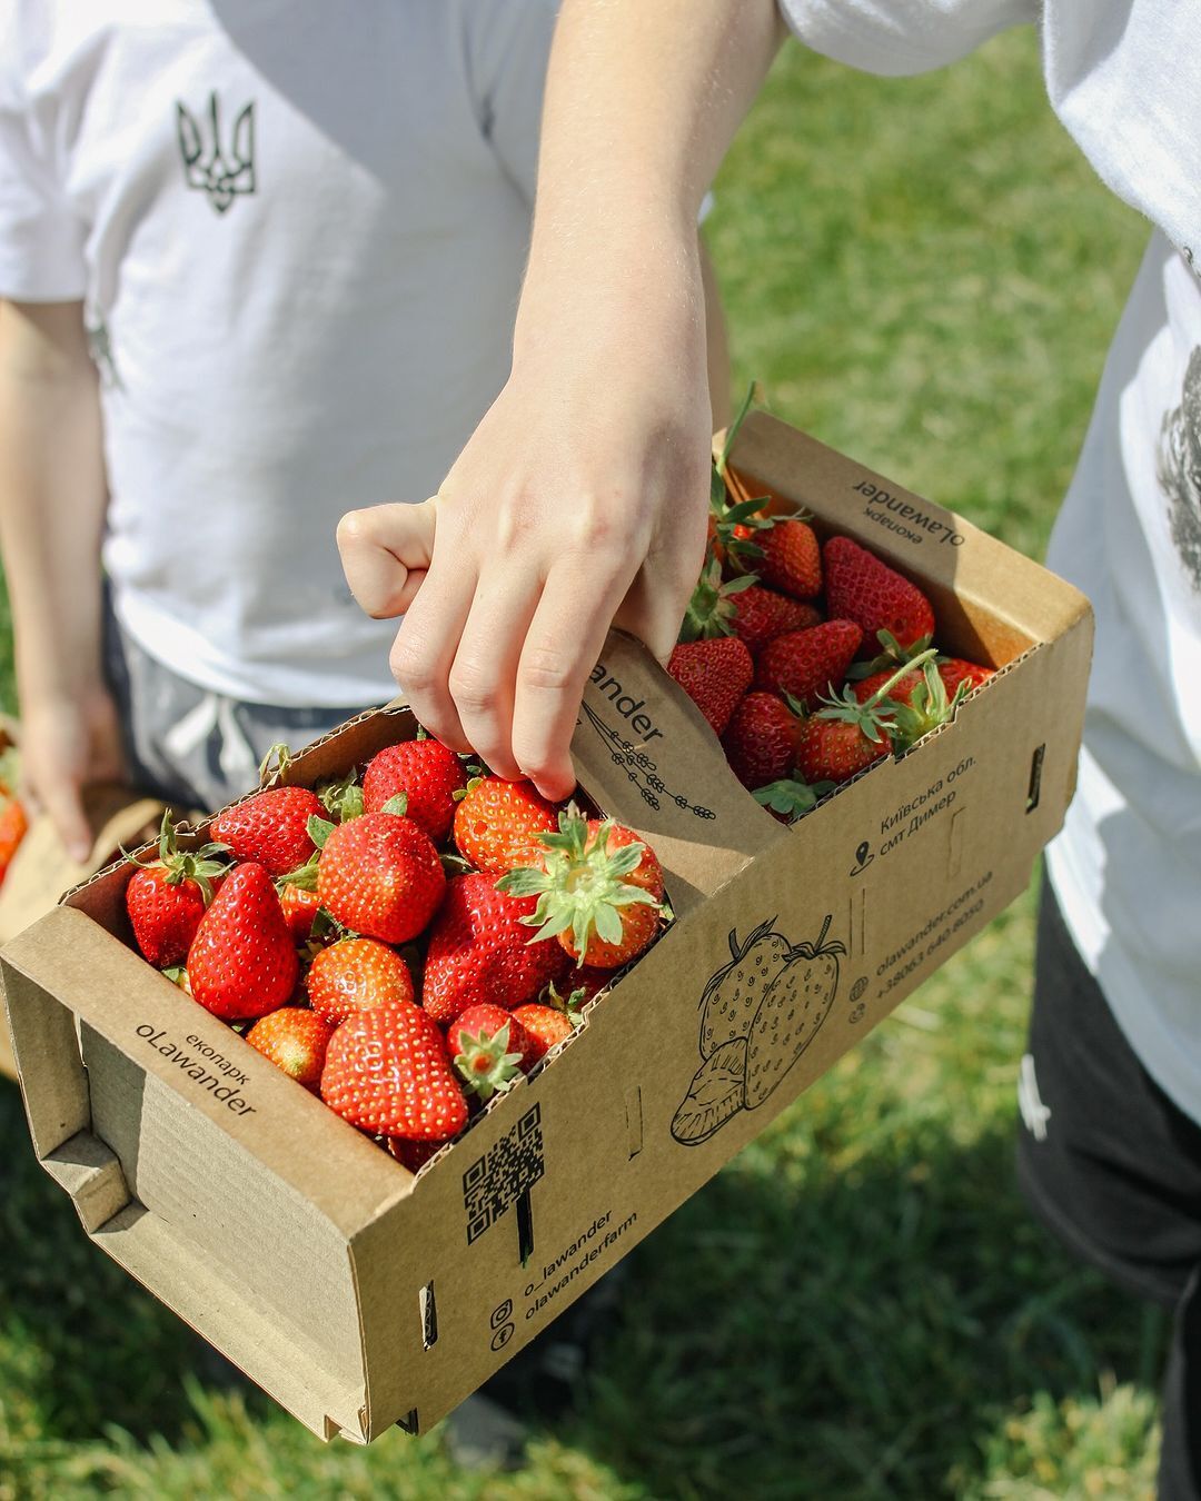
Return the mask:
[[[1201,1121],[1201,14],[1183,0],[781,5],[812,48],[881,74],[1040,23],[1055,113],[1157,225],[1051,540],[1097,638],[1079,787],[1048,859],[1118,1025]]]

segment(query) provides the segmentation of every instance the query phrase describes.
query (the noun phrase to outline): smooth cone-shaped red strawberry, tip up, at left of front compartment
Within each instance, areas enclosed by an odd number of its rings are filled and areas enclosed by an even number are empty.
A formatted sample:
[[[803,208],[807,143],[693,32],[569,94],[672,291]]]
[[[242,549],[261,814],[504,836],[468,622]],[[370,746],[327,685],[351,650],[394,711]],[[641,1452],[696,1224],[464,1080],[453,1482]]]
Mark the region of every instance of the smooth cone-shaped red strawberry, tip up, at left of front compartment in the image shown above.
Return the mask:
[[[266,1016],[291,997],[299,973],[272,878],[254,862],[234,866],[188,950],[192,997],[227,1021]]]

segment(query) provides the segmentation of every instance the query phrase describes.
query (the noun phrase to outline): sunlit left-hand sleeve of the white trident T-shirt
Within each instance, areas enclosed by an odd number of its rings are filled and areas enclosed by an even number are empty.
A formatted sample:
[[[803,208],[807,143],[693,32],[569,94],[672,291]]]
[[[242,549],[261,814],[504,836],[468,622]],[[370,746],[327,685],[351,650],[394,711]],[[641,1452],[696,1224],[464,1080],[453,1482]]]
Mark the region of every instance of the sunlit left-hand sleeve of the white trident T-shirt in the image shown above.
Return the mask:
[[[12,15],[0,15],[0,297],[72,302],[86,290],[86,230],[56,152],[62,101],[29,99],[15,33]]]

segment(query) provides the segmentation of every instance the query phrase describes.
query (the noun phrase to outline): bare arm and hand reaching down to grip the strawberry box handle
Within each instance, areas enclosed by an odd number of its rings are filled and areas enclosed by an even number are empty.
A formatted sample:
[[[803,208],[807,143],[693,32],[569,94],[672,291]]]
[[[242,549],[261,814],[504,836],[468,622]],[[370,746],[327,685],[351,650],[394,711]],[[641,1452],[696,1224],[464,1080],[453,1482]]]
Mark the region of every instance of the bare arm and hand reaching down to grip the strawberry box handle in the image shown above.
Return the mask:
[[[775,0],[566,0],[510,378],[434,500],[339,527],[422,722],[551,797],[610,624],[667,657],[700,570],[697,213],[779,38]]]

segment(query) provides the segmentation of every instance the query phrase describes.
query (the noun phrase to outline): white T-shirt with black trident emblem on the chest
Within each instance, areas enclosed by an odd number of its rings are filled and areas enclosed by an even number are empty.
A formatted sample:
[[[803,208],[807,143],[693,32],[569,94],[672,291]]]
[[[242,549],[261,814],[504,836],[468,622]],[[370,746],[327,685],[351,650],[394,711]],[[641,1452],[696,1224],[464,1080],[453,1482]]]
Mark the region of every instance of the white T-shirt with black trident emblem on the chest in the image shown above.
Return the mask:
[[[0,296],[83,297],[117,614],[206,689],[395,692],[339,515],[503,386],[557,0],[0,0]]]

